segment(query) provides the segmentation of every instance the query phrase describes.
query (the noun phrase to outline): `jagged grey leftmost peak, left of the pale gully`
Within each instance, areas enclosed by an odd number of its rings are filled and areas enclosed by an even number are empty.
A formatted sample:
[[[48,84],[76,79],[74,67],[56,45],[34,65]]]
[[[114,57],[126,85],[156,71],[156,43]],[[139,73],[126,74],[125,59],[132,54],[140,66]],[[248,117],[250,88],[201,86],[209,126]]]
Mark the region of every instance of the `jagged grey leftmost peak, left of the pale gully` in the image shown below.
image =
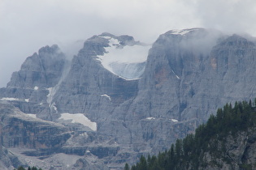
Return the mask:
[[[63,73],[64,59],[57,45],[43,47],[26,59],[7,87],[52,87]]]

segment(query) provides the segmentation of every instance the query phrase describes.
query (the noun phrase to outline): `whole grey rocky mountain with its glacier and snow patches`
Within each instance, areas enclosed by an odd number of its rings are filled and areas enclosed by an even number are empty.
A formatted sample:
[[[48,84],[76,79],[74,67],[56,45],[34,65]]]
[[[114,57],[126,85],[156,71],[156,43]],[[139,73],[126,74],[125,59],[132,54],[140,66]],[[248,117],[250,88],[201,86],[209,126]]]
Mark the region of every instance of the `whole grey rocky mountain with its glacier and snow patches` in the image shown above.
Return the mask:
[[[105,32],[85,40],[72,61],[58,45],[43,47],[0,89],[2,107],[11,104],[13,113],[26,113],[32,121],[61,125],[54,136],[69,134],[61,146],[46,150],[20,142],[2,146],[26,159],[61,155],[56,157],[65,162],[70,154],[70,166],[80,160],[84,168],[123,168],[143,153],[168,149],[223,104],[254,98],[254,42],[250,36],[191,28],[166,32],[153,45]],[[2,135],[4,140],[9,139]]]

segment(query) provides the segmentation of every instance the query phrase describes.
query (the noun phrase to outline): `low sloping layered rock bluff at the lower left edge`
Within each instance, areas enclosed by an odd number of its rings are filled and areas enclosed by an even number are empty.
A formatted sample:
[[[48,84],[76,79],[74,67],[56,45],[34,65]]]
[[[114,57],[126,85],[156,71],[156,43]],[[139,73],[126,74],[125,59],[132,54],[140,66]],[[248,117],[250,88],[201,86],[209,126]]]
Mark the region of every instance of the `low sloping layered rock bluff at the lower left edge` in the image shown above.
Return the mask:
[[[4,147],[57,149],[71,137],[67,127],[30,117],[10,104],[0,104],[0,113]]]

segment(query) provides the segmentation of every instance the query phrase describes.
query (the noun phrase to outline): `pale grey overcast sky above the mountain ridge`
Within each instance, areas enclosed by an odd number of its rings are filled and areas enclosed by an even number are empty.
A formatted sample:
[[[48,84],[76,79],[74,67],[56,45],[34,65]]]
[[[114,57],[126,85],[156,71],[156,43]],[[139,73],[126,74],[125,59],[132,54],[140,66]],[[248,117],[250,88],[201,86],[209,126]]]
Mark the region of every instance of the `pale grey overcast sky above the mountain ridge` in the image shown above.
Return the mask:
[[[256,36],[255,0],[0,0],[0,87],[42,46],[69,55],[110,32],[153,43],[171,29],[216,28]]]

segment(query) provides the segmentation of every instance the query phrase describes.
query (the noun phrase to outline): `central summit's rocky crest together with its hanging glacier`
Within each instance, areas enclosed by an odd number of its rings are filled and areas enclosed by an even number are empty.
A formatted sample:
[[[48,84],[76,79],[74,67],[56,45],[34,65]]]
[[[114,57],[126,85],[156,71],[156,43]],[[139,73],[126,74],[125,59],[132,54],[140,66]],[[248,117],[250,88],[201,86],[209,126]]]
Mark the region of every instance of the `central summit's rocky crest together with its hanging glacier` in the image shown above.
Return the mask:
[[[142,45],[132,36],[114,36],[102,33],[85,41],[77,60],[84,63],[84,57],[97,60],[112,74],[127,80],[139,79],[145,69],[145,61],[150,45]],[[82,64],[84,65],[84,64]]]

